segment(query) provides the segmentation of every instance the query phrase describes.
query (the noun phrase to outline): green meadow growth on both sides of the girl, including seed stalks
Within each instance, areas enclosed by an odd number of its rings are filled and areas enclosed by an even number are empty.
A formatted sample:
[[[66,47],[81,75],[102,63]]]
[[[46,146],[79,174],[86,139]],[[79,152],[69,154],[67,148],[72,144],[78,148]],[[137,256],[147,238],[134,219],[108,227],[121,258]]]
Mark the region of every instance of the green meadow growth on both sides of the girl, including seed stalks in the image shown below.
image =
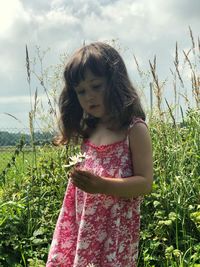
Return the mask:
[[[192,92],[194,105],[190,105],[184,95],[184,113],[176,97],[173,105],[163,99],[163,83],[156,74],[156,60],[150,62],[149,74],[157,101],[148,112],[154,183],[151,194],[145,196],[141,206],[138,267],[200,266],[200,42],[198,40],[195,45],[191,31],[190,34],[192,47],[185,52],[183,62],[191,71],[187,89]],[[176,47],[172,73],[176,82],[175,96],[184,83],[179,62]],[[142,77],[144,73],[137,60],[136,65]],[[162,109],[164,100],[166,110]],[[177,109],[181,111],[179,120]],[[2,267],[45,266],[69,177],[70,169],[63,165],[79,151],[78,146],[71,144],[67,148],[35,146],[35,112],[30,112],[30,150],[25,149],[22,136],[0,169]],[[0,156],[1,153],[5,152],[0,151]]]

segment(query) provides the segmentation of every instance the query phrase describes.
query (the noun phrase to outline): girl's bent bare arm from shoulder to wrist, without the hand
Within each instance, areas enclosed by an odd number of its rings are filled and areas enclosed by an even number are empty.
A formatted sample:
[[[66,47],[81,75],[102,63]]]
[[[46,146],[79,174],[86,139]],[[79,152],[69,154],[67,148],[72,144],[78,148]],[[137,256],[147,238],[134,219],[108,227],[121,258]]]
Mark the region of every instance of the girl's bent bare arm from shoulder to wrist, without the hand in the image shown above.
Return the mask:
[[[106,178],[101,193],[118,197],[137,197],[151,192],[153,182],[153,160],[151,138],[147,127],[137,123],[130,131],[130,149],[134,176],[128,178]]]

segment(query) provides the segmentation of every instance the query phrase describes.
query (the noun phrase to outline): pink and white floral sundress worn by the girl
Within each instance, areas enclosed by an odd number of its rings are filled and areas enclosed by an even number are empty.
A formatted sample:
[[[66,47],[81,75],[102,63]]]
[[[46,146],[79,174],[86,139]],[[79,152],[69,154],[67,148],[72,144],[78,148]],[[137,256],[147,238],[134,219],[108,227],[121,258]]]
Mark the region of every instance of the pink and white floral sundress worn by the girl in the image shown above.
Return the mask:
[[[138,122],[144,123],[136,118],[129,129]],[[134,175],[128,134],[101,146],[85,140],[82,151],[81,169],[103,177]],[[69,179],[46,267],[135,267],[141,200],[89,194]]]

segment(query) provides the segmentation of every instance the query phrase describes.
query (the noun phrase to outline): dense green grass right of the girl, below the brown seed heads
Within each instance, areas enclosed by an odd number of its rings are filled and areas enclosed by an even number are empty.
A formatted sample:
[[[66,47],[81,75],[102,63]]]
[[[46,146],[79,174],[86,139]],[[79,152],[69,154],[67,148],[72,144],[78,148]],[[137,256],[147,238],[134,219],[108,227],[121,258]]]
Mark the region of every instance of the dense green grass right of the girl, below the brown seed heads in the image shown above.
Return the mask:
[[[173,127],[153,119],[154,185],[142,207],[139,266],[200,263],[200,117]],[[149,223],[148,223],[149,222]]]

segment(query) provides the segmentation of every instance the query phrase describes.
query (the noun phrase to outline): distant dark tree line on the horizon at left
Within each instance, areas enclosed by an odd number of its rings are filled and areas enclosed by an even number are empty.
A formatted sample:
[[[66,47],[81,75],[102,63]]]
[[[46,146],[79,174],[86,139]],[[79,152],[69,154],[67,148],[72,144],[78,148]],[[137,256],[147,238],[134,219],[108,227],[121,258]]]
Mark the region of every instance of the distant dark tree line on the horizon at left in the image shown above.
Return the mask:
[[[34,144],[44,145],[52,142],[53,134],[49,132],[35,132],[34,133]],[[23,138],[23,141],[27,145],[31,145],[30,134],[24,133],[10,133],[8,131],[0,131],[0,146],[15,146]]]

